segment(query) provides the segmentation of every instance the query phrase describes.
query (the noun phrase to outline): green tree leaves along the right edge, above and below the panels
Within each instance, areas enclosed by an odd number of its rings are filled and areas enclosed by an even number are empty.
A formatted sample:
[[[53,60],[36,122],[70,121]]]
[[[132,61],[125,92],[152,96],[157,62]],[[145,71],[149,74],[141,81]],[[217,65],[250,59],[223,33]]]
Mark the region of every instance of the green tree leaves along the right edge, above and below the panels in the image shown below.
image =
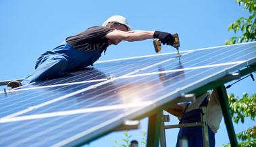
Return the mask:
[[[249,17],[241,17],[228,26],[230,32],[241,35],[226,40],[226,45],[256,40],[256,0],[236,0],[236,2],[238,5],[242,5],[244,11],[249,11]],[[244,123],[245,117],[255,120],[256,94],[249,96],[249,94],[245,93],[242,98],[229,94],[228,103],[232,119],[235,123],[239,121]],[[238,143],[239,146],[256,146],[256,126],[236,134],[236,137],[241,141]],[[230,146],[230,144],[226,146]]]

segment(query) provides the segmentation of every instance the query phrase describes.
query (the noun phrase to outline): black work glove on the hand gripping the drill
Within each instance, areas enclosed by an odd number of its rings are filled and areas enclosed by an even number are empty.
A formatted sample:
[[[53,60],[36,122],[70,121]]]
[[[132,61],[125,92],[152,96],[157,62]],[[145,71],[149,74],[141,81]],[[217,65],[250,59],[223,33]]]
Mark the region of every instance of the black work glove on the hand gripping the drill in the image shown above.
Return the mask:
[[[163,45],[174,45],[174,37],[168,32],[160,32],[156,30],[153,34],[153,38],[159,38]]]

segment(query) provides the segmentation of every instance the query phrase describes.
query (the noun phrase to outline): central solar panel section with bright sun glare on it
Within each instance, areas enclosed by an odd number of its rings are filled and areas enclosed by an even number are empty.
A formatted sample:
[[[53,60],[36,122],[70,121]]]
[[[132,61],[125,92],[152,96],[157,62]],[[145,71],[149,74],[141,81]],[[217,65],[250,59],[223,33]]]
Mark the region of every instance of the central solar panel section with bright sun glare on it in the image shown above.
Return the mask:
[[[197,82],[209,76],[209,73],[217,72],[226,67],[228,65],[209,69],[195,69],[184,71],[184,73],[165,73],[164,75],[154,74],[151,76],[124,78],[99,86],[96,89],[88,90],[83,94],[76,94],[70,98],[55,102],[47,106],[49,109],[43,107],[26,113],[26,115],[155,100],[155,98],[173,92],[177,87],[184,87],[188,82]]]

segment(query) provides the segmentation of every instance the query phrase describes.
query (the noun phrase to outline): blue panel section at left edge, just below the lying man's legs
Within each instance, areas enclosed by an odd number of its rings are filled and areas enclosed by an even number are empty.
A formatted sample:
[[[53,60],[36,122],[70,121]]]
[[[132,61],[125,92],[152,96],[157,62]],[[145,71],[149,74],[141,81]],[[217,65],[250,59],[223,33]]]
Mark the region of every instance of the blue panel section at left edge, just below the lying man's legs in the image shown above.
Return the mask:
[[[43,102],[69,94],[76,90],[86,88],[99,82],[90,82],[84,84],[74,84],[69,86],[57,86],[52,88],[40,88],[33,90],[24,90],[19,92],[9,92],[0,96],[0,117],[10,115],[16,111],[21,111],[28,107],[39,105]]]

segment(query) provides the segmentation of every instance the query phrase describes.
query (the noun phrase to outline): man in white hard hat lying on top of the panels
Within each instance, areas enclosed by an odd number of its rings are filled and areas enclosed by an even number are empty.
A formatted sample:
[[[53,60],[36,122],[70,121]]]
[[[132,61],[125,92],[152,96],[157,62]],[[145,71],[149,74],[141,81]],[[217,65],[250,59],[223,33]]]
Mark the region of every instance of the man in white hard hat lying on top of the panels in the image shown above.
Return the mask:
[[[64,73],[93,65],[109,45],[118,45],[122,40],[139,41],[159,38],[163,45],[173,45],[172,34],[160,31],[131,30],[126,18],[111,16],[102,26],[93,26],[80,34],[66,38],[66,44],[47,51],[36,61],[34,72],[22,83],[7,84],[16,88],[39,80],[57,78]]]

